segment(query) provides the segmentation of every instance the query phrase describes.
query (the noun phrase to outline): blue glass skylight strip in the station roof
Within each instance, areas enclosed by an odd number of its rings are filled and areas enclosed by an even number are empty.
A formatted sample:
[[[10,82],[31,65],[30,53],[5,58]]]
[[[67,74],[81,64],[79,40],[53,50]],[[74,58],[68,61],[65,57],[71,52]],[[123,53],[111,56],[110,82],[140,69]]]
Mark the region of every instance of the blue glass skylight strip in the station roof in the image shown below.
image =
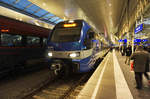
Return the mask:
[[[7,8],[16,9],[17,11],[40,19],[49,24],[57,24],[63,19],[55,16],[54,14],[40,8],[28,0],[0,0],[0,2]]]

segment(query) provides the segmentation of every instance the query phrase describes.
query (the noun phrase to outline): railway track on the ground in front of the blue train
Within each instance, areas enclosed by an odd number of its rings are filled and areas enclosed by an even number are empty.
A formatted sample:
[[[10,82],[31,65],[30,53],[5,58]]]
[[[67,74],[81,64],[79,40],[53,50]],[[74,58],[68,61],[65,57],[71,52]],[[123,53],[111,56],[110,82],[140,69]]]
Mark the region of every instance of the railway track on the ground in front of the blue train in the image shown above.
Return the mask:
[[[24,99],[75,99],[93,72],[56,79]]]

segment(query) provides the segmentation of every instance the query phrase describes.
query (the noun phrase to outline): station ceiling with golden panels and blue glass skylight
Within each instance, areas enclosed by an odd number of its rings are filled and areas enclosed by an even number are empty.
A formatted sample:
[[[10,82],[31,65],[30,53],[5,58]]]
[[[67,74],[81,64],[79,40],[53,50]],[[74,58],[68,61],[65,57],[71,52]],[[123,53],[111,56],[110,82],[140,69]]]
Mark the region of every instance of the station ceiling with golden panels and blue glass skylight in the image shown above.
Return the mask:
[[[127,32],[131,34],[141,16],[150,16],[149,0],[0,0],[1,3],[53,26],[63,19],[84,19],[110,41],[122,38]],[[145,11],[147,14],[142,15]]]

